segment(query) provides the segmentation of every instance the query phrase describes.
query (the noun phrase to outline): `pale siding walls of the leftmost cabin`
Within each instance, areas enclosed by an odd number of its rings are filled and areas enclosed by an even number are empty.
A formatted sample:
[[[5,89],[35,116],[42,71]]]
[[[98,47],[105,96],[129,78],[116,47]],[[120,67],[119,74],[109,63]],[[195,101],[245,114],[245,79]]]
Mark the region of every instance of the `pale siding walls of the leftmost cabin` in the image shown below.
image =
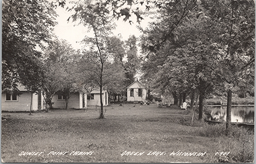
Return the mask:
[[[2,92],[2,111],[30,111],[31,104],[31,94],[29,92],[22,92],[20,96],[18,96],[18,101],[6,101],[6,94]],[[38,110],[38,95],[33,94],[33,104],[32,110]]]

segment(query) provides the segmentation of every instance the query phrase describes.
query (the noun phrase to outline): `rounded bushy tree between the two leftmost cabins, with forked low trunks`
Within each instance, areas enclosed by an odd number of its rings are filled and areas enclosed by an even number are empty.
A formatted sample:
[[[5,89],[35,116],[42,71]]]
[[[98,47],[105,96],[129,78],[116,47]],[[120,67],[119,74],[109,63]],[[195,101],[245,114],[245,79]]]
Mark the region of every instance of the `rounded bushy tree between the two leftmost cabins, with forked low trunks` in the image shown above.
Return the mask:
[[[53,40],[45,50],[44,62],[44,100],[52,108],[52,98],[56,93],[62,94],[68,109],[69,98],[76,91],[78,81],[76,52],[66,40]]]

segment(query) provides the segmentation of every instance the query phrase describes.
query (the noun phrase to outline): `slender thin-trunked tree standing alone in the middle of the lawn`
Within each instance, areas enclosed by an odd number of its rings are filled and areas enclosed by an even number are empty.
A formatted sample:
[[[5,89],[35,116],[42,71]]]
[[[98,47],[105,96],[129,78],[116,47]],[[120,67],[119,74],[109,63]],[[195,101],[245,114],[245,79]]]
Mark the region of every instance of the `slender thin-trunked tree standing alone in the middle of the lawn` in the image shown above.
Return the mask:
[[[98,10],[98,12],[95,12]],[[72,15],[73,20],[79,19],[81,24],[92,30],[94,37],[85,37],[84,43],[89,47],[85,50],[80,66],[85,72],[89,72],[87,81],[97,83],[100,88],[100,118],[104,118],[102,91],[108,83],[120,81],[121,69],[115,65],[113,59],[113,49],[107,43],[110,43],[111,30],[114,24],[108,17],[108,11],[104,10],[103,4],[78,4],[75,7],[75,14]],[[82,11],[82,12],[81,12]],[[113,45],[112,45],[113,46]]]

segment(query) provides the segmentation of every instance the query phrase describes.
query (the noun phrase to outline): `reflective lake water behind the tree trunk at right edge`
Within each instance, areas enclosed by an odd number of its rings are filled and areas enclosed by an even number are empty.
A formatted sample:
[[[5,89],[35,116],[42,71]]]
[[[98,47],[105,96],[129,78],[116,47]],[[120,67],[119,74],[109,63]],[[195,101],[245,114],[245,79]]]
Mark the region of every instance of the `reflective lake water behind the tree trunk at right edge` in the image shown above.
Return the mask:
[[[209,120],[226,121],[226,106],[207,107],[211,113]],[[233,123],[254,123],[254,107],[233,106],[231,109],[231,122]]]

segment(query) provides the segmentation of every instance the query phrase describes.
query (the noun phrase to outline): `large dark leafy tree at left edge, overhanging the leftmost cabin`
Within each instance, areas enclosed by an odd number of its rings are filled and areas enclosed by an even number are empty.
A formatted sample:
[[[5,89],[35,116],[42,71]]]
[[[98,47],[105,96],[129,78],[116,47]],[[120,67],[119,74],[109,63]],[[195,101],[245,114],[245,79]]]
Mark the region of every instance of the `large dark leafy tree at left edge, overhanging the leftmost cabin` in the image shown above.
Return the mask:
[[[41,53],[36,46],[43,48],[43,42],[49,42],[55,17],[56,12],[44,0],[2,3],[3,91],[17,90],[20,82],[34,92],[36,81],[40,80],[37,63]]]

